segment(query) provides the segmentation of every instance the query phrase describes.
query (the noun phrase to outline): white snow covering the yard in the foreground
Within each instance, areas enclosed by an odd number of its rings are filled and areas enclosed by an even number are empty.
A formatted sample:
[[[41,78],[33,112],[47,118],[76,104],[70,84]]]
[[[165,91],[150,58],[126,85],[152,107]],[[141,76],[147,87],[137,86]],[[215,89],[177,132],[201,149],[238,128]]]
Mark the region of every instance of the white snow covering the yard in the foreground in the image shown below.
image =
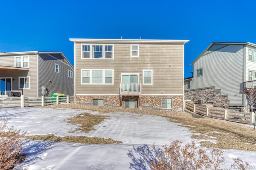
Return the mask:
[[[26,107],[0,109],[0,120],[6,111],[8,126],[28,131],[30,135],[85,135],[123,142],[104,145],[28,141],[24,148],[28,154],[22,166],[28,170],[147,170],[147,164],[141,164],[140,160],[144,158],[145,150],[150,151],[153,143],[162,148],[162,145],[170,145],[172,141],[179,139],[184,144],[195,141],[199,145],[199,141],[191,139],[192,133],[185,127],[153,115]],[[69,133],[77,126],[66,123],[66,120],[84,112],[104,114],[110,118],[95,126],[95,131]],[[209,148],[198,148],[209,153],[211,151]],[[256,152],[225,149],[225,166],[230,167],[234,157],[248,162],[251,169],[256,169]]]

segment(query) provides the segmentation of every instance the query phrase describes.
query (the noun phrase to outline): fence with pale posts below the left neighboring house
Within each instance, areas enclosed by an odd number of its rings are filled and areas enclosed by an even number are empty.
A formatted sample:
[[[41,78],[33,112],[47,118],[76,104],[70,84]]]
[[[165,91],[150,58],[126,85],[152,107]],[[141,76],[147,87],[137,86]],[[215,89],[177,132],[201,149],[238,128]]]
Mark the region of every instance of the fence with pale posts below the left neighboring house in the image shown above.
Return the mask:
[[[0,108],[8,107],[29,107],[29,106],[46,106],[52,104],[71,103],[74,102],[74,96],[56,96],[56,97],[0,97]]]

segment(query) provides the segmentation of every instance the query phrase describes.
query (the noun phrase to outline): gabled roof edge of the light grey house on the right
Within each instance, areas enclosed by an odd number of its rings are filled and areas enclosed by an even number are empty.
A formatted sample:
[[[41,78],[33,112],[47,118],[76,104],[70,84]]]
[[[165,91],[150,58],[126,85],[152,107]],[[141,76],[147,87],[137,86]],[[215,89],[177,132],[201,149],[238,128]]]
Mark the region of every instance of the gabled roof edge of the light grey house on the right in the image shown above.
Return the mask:
[[[190,64],[193,65],[194,63],[196,63],[196,61],[198,61],[198,59],[200,59],[203,55],[214,51],[214,50],[218,50],[221,48],[224,48],[228,45],[250,45],[253,47],[256,47],[256,44],[254,43],[250,43],[250,42],[212,42],[198,57],[196,57],[196,59]]]

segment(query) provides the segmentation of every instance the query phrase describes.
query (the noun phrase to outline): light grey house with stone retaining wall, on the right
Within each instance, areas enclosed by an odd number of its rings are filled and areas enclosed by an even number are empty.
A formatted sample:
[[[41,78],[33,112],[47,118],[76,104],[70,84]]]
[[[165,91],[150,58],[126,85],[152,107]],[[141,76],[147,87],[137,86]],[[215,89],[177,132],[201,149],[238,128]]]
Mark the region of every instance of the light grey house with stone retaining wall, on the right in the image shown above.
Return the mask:
[[[192,63],[185,98],[247,110],[243,84],[256,80],[256,44],[211,43]]]

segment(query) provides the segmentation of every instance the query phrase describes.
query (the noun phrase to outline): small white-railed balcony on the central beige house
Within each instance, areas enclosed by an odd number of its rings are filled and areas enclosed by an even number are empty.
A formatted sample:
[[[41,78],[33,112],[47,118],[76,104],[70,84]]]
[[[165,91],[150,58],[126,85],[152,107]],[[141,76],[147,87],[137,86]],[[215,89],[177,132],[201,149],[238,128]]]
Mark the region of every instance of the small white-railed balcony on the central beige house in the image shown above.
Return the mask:
[[[120,83],[120,95],[140,95],[141,83]]]

